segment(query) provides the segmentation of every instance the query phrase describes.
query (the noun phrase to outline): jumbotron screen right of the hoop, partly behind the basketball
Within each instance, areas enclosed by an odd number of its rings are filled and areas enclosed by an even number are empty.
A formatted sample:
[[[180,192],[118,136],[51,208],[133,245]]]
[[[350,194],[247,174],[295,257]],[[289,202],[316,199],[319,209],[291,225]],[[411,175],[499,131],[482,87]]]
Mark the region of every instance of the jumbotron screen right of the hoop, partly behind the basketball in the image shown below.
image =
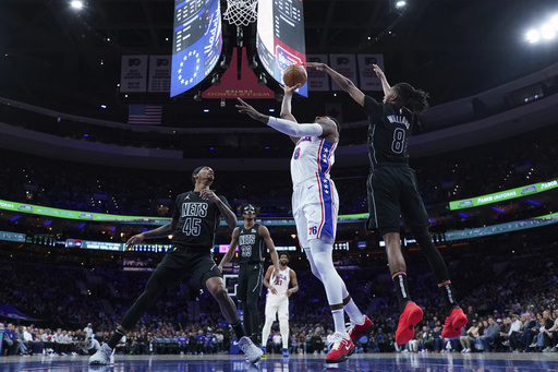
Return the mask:
[[[288,65],[306,62],[302,0],[259,1],[257,7],[257,53],[266,71],[282,84]],[[296,93],[307,97],[307,84]]]

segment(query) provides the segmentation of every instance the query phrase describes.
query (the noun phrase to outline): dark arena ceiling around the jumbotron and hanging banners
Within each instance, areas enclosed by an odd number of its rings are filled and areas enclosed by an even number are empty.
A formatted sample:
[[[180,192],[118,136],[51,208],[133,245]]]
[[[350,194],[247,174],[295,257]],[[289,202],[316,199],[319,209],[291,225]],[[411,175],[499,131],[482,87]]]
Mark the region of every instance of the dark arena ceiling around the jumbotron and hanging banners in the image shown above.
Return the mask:
[[[433,104],[485,91],[558,60],[556,41],[534,46],[523,36],[558,11],[556,0],[408,0],[401,16],[393,2],[304,0],[306,52],[384,53],[389,80],[430,92]],[[117,91],[121,56],[170,55],[173,3],[90,0],[77,14],[66,0],[2,0],[0,96],[125,121],[130,100]],[[391,33],[381,37],[390,26]],[[229,26],[227,33],[234,44],[235,28]],[[253,27],[244,28],[246,44],[253,34]],[[207,120],[197,115],[202,106],[215,106],[210,121],[230,115],[219,111],[216,101],[201,104],[192,96],[132,99],[163,103],[171,123],[191,119],[178,125],[201,127],[198,120]],[[310,103],[348,99],[340,96],[313,94]],[[100,110],[100,104],[108,109]]]

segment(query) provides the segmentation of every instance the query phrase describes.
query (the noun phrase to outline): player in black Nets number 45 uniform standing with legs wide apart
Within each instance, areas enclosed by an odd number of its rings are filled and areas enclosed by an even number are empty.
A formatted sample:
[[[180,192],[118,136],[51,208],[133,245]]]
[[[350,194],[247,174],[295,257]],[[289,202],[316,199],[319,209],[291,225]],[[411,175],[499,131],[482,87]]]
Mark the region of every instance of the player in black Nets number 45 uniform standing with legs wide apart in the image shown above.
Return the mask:
[[[214,179],[215,173],[210,167],[196,168],[192,172],[194,190],[177,197],[170,224],[135,235],[128,240],[126,247],[133,247],[146,239],[173,235],[172,249],[153,272],[144,292],[125,313],[107,344],[89,358],[89,364],[110,364],[112,351],[119,340],[133,329],[137,321],[162,293],[189,276],[195,278],[217,300],[222,314],[232,324],[239,346],[248,361],[255,363],[262,358],[262,350],[246,337],[236,307],[229,297],[221,273],[213,259],[215,230],[219,226],[221,216],[230,228],[236,226],[236,216],[231,211],[227,199],[216,195],[209,189]]]

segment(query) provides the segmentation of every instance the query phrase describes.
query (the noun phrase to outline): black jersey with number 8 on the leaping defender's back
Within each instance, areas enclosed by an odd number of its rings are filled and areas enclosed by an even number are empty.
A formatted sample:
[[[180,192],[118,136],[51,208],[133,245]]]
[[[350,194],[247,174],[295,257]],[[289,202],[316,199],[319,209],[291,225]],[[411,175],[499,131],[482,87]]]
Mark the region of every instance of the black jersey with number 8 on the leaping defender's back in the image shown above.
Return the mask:
[[[413,115],[407,108],[364,98],[364,112],[368,117],[368,160],[371,170],[378,164],[407,165],[407,147],[412,134]]]

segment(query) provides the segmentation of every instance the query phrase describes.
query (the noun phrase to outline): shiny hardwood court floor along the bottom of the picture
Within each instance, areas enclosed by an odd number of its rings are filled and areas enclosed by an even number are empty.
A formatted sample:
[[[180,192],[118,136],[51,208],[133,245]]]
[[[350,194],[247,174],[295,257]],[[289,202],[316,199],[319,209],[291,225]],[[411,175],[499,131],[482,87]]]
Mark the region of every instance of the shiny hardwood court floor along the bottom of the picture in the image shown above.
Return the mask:
[[[324,355],[268,356],[257,365],[242,356],[116,356],[112,365],[88,365],[87,357],[0,357],[4,372],[368,372],[368,371],[470,371],[558,372],[558,353],[359,353],[339,364],[327,364]]]

